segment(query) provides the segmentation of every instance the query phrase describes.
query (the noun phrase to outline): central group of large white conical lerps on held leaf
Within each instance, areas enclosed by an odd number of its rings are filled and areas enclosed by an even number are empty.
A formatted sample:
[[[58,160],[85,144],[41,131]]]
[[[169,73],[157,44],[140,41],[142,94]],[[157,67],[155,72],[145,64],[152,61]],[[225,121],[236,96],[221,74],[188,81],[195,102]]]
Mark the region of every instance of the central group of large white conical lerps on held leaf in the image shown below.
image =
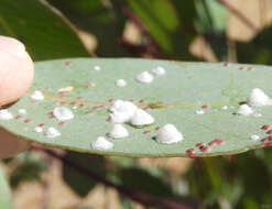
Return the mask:
[[[108,133],[111,139],[123,139],[129,136],[128,130],[123,123],[132,125],[148,125],[154,122],[154,118],[146,111],[138,108],[130,101],[117,100],[109,109],[111,122],[115,123],[113,129]],[[164,144],[171,144],[182,141],[183,134],[177,131],[173,124],[166,124],[160,129],[156,141]],[[99,136],[93,144],[95,150],[109,150],[113,147],[113,143],[106,138]]]

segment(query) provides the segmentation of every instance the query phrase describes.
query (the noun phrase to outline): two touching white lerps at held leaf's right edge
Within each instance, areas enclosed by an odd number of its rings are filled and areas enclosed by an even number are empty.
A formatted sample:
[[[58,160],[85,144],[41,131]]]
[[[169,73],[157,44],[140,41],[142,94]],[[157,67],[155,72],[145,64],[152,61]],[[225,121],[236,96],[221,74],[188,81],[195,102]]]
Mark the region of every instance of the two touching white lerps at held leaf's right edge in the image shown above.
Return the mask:
[[[252,89],[248,103],[241,105],[238,110],[238,114],[241,116],[249,116],[252,114],[253,107],[263,107],[263,106],[271,106],[272,100],[268,95],[265,95],[261,89],[254,88]]]

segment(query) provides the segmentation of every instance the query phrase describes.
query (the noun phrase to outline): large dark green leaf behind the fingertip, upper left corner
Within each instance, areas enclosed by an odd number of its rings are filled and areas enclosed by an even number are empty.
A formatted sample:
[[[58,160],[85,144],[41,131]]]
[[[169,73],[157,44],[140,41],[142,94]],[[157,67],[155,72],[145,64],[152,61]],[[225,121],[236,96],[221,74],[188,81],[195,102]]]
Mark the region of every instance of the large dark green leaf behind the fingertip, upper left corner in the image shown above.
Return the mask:
[[[41,1],[1,0],[0,34],[22,41],[34,61],[89,56],[73,30]]]

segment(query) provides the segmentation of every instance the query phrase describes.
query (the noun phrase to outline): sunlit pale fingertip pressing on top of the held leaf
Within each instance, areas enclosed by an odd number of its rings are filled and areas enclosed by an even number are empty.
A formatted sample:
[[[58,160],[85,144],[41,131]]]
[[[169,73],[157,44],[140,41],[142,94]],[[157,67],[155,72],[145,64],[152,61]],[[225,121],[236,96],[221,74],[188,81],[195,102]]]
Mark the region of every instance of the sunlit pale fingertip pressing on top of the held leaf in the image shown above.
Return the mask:
[[[18,100],[32,84],[34,64],[24,45],[0,36],[0,107]]]

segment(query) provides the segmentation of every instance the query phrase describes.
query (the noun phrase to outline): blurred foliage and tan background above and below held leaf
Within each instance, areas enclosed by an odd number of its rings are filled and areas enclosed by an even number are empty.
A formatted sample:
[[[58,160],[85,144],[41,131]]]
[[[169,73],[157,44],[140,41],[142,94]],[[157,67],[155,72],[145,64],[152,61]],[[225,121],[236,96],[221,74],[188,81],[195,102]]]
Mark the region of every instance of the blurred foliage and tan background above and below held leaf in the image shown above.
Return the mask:
[[[0,0],[0,34],[22,41],[35,62],[146,57],[269,65],[271,10],[271,0]],[[132,190],[188,208],[272,209],[270,148],[196,160],[61,154]],[[144,208],[46,153],[23,153],[3,168],[15,209]],[[1,193],[8,189],[1,186]],[[10,208],[9,197],[1,197],[0,208]]]

